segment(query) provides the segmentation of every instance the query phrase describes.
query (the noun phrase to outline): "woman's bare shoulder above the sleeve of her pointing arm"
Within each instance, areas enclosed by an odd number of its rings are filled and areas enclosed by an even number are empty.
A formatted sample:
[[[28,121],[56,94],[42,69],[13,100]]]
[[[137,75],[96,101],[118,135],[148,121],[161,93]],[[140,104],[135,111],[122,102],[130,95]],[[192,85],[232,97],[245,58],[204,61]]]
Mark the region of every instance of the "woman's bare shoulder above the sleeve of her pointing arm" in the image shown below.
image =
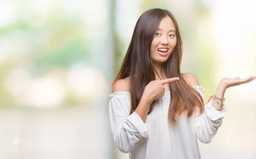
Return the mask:
[[[130,77],[116,80],[116,82],[114,82],[114,84],[112,85],[110,93],[119,92],[119,91],[129,92],[130,91],[129,80],[130,80]]]

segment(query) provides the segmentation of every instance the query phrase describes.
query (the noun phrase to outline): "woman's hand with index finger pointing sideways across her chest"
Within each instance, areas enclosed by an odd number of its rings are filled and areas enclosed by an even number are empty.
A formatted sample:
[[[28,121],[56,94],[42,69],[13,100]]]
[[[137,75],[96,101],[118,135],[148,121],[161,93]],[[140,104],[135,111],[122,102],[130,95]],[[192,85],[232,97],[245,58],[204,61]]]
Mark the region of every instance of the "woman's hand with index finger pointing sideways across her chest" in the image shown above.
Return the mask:
[[[143,96],[151,99],[153,102],[154,100],[157,100],[161,97],[163,97],[165,92],[165,85],[166,83],[173,82],[179,80],[179,77],[169,78],[166,80],[154,80],[148,83],[148,85],[145,86]]]

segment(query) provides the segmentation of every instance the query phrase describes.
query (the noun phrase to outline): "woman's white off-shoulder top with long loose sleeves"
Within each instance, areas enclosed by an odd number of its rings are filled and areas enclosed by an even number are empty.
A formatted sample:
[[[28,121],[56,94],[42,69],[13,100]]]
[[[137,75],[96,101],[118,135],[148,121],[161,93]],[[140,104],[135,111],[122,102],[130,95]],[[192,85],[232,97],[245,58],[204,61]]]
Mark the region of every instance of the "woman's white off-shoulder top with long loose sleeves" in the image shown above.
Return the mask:
[[[192,86],[203,97],[205,111],[191,117],[177,118],[178,125],[168,121],[170,91],[165,91],[160,102],[148,114],[145,123],[135,112],[131,115],[130,93],[113,92],[109,95],[109,119],[116,147],[130,153],[130,159],[201,159],[197,139],[209,143],[221,126],[226,109],[216,111],[212,101],[206,104],[204,88]]]

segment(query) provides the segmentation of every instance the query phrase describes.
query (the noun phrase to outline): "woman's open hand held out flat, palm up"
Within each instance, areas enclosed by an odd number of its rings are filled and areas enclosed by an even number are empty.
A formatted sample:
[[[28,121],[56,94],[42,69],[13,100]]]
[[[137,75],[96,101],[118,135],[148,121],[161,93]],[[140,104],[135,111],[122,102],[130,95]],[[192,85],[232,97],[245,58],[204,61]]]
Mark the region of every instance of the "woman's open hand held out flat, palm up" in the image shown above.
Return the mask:
[[[249,82],[252,82],[253,80],[256,79],[256,76],[250,76],[246,79],[240,79],[240,77],[236,77],[236,78],[223,78],[221,79],[221,84],[224,85],[224,87],[227,89],[227,88],[230,88],[230,87],[233,87],[233,86],[236,86],[236,85],[241,85],[241,84],[244,84],[244,83],[249,83]]]

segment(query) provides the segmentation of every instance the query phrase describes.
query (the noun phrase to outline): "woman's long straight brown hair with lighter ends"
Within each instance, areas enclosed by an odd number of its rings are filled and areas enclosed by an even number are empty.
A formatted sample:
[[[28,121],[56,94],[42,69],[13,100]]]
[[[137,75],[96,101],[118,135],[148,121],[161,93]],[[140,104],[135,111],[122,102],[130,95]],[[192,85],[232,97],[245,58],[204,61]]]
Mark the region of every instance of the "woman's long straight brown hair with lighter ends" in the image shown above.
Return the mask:
[[[150,47],[160,21],[166,16],[169,16],[173,20],[177,37],[177,43],[172,54],[162,66],[167,78],[180,78],[180,80],[169,83],[171,98],[168,119],[170,125],[176,125],[177,115],[186,112],[186,116],[189,117],[194,113],[196,106],[199,108],[199,113],[201,114],[204,111],[204,101],[198,91],[186,83],[186,77],[180,73],[182,40],[177,21],[171,12],[164,9],[149,9],[140,16],[134,28],[131,42],[122,61],[121,68],[114,82],[130,77],[130,114],[132,114],[139,105],[145,86],[150,81],[156,80],[153,62],[150,56]],[[156,100],[152,102],[148,114],[151,113],[156,102]]]

